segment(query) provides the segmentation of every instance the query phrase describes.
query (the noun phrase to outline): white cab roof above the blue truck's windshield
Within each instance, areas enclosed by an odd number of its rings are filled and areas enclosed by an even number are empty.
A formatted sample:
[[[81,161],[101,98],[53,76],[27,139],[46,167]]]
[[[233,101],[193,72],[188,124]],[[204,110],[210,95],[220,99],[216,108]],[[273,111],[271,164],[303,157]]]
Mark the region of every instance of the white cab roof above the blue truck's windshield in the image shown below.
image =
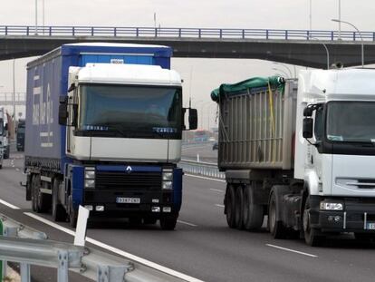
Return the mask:
[[[181,85],[176,71],[144,64],[87,63],[79,70],[78,80],[80,83]]]

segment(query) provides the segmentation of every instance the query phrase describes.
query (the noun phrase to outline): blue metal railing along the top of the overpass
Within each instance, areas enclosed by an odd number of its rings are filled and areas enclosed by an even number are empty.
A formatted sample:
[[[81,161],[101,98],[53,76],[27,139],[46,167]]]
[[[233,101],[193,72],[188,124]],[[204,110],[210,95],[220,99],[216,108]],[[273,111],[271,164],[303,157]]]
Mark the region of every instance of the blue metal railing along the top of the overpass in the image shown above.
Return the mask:
[[[35,26],[0,25],[0,36],[111,36],[111,37],[173,37],[213,39],[261,39],[325,41],[375,41],[375,32],[236,29],[236,28],[178,28],[178,27],[112,27],[112,26]]]

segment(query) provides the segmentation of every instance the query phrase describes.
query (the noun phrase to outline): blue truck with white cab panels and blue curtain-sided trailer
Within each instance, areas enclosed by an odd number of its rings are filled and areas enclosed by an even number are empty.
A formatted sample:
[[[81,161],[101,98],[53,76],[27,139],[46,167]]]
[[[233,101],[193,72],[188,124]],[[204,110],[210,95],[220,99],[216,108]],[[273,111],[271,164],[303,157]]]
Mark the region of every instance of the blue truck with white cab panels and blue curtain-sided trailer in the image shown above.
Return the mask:
[[[27,65],[26,200],[55,221],[123,217],[175,229],[184,130],[172,50],[140,44],[63,44]],[[185,114],[188,124],[185,125]]]

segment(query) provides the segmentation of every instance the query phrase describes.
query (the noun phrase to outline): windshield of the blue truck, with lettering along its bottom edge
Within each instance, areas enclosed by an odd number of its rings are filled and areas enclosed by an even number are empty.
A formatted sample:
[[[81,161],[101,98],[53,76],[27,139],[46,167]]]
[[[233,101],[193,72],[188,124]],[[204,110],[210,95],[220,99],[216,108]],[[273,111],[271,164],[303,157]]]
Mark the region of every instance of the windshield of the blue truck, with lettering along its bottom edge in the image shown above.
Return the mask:
[[[92,136],[180,139],[178,87],[83,84],[79,130]]]

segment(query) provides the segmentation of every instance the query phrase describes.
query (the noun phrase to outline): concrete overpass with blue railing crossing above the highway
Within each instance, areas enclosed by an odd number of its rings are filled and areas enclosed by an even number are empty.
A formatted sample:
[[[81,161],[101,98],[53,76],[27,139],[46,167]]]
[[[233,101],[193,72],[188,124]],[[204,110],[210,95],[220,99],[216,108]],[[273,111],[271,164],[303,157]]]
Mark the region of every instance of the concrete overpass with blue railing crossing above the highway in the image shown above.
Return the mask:
[[[340,36],[340,38],[339,38]],[[261,59],[325,68],[330,63],[375,63],[375,32],[281,29],[152,28],[0,25],[0,60],[41,55],[61,44],[163,44],[174,57]]]

